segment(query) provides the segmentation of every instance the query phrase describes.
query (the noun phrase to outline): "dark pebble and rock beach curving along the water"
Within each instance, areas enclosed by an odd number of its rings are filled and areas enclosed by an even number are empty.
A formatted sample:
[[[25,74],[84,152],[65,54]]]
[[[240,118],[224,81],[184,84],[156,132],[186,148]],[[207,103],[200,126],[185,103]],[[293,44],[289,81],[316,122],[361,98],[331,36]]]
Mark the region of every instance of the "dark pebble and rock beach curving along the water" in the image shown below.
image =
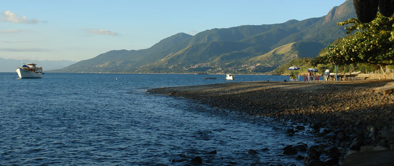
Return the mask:
[[[325,142],[309,147],[302,143],[284,147],[284,154],[307,151],[307,156],[296,159],[304,160],[308,166],[338,165],[343,158],[343,165],[358,165],[357,161],[362,160],[369,160],[365,165],[391,165],[393,159],[373,161],[360,157],[386,150],[380,156],[392,158],[394,94],[372,91],[390,82],[236,82],[157,88],[148,93],[193,99],[251,116],[309,124],[311,133]],[[286,129],[286,133],[294,135],[302,127]],[[320,157],[321,154],[326,157]]]

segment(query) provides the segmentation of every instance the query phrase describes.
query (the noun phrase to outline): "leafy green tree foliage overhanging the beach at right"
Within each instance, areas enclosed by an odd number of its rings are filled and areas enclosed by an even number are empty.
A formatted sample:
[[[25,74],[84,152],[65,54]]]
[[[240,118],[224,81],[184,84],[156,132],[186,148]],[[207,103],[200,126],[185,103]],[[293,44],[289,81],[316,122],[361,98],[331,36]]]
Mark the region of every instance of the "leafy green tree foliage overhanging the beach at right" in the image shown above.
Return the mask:
[[[337,25],[345,26],[348,36],[329,50],[324,56],[312,60],[317,64],[368,63],[394,65],[394,19],[377,14],[370,23],[349,19]]]

